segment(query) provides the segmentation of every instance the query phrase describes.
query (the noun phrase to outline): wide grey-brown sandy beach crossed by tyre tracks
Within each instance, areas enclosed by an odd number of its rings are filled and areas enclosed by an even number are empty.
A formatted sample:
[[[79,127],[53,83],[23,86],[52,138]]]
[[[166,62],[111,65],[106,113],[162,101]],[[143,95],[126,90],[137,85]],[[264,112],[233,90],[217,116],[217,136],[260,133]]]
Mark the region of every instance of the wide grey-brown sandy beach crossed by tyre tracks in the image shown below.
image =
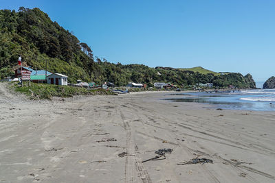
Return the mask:
[[[0,182],[275,182],[274,112],[166,93],[29,101],[4,85]],[[142,163],[161,148],[173,152]],[[197,156],[214,162],[177,165]]]

